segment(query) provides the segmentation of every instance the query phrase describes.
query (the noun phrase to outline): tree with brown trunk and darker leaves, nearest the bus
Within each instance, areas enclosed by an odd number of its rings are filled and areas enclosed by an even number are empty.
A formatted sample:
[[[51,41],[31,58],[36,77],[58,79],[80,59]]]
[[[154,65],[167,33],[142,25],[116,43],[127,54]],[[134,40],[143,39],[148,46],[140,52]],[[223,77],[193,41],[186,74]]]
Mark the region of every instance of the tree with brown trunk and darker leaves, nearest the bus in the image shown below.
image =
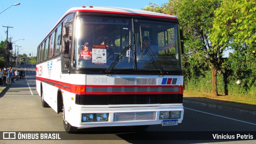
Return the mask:
[[[214,10],[220,0],[180,0],[178,17],[184,25],[186,36],[186,58],[196,68],[206,65],[212,71],[212,94],[218,96],[217,71],[223,63],[221,46],[213,47],[210,34],[214,21]]]

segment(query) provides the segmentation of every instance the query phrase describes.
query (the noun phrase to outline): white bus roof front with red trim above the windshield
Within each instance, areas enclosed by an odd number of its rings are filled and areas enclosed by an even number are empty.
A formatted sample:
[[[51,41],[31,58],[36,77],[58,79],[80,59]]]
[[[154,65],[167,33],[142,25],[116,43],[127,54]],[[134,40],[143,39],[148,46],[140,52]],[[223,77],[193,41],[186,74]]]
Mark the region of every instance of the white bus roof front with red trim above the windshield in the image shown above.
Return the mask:
[[[112,13],[112,14],[127,14],[127,15],[137,15],[137,16],[150,16],[150,17],[158,17],[158,18],[169,18],[178,20],[177,16],[173,16],[171,14],[162,14],[158,12],[151,12],[147,10],[136,10],[132,8],[118,8],[118,7],[76,7],[70,8],[66,14],[70,12],[99,12],[99,13]],[[65,15],[66,15],[65,14]]]

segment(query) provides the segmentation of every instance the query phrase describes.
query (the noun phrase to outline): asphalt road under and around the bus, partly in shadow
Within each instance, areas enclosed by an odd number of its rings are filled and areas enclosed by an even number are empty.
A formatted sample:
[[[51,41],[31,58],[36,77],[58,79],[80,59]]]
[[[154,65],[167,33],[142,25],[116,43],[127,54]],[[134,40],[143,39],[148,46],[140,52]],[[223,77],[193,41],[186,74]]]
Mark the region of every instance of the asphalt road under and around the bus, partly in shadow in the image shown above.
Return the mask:
[[[0,143],[45,143],[43,140],[3,140],[4,132],[58,133],[60,140],[47,143],[256,143],[256,118],[250,114],[213,109],[184,103],[184,120],[178,126],[153,125],[145,132],[132,127],[102,127],[78,129],[66,134],[62,114],[42,108],[36,92],[35,71],[27,70],[26,80],[18,80],[0,97]],[[247,139],[236,136],[248,135]],[[212,140],[213,136],[231,139]],[[232,136],[235,138],[232,138]],[[254,140],[250,140],[253,137]],[[250,139],[248,139],[250,138]],[[180,140],[182,139],[182,140]],[[183,140],[184,139],[184,140]],[[81,141],[83,140],[83,141]]]

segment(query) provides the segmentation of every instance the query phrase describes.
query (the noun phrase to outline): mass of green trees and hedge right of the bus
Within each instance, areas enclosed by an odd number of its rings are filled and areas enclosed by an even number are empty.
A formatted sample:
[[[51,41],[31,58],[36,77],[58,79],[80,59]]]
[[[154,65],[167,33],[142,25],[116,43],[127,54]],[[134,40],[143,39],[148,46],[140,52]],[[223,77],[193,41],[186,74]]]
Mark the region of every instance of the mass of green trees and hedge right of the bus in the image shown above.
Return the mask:
[[[144,10],[178,15],[186,38],[185,83],[201,82],[211,70],[214,95],[218,95],[218,89],[225,94],[256,95],[254,0],[169,0],[162,6],[150,3]],[[234,52],[223,58],[229,49]]]

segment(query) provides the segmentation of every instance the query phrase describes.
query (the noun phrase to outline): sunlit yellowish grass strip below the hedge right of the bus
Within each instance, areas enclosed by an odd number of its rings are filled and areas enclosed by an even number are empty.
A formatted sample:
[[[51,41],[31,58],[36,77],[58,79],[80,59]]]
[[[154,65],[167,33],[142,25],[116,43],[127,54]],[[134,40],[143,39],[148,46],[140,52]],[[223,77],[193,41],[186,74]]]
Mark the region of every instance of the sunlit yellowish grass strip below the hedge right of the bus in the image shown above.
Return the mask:
[[[228,101],[228,102],[238,102],[238,103],[243,103],[243,104],[256,105],[256,98],[247,98],[247,97],[242,97],[242,96],[232,96],[232,95],[212,96],[212,94],[208,94],[208,93],[186,91],[186,90],[184,90],[184,96],[210,98],[210,99],[214,99],[214,100],[223,100],[223,101]]]

